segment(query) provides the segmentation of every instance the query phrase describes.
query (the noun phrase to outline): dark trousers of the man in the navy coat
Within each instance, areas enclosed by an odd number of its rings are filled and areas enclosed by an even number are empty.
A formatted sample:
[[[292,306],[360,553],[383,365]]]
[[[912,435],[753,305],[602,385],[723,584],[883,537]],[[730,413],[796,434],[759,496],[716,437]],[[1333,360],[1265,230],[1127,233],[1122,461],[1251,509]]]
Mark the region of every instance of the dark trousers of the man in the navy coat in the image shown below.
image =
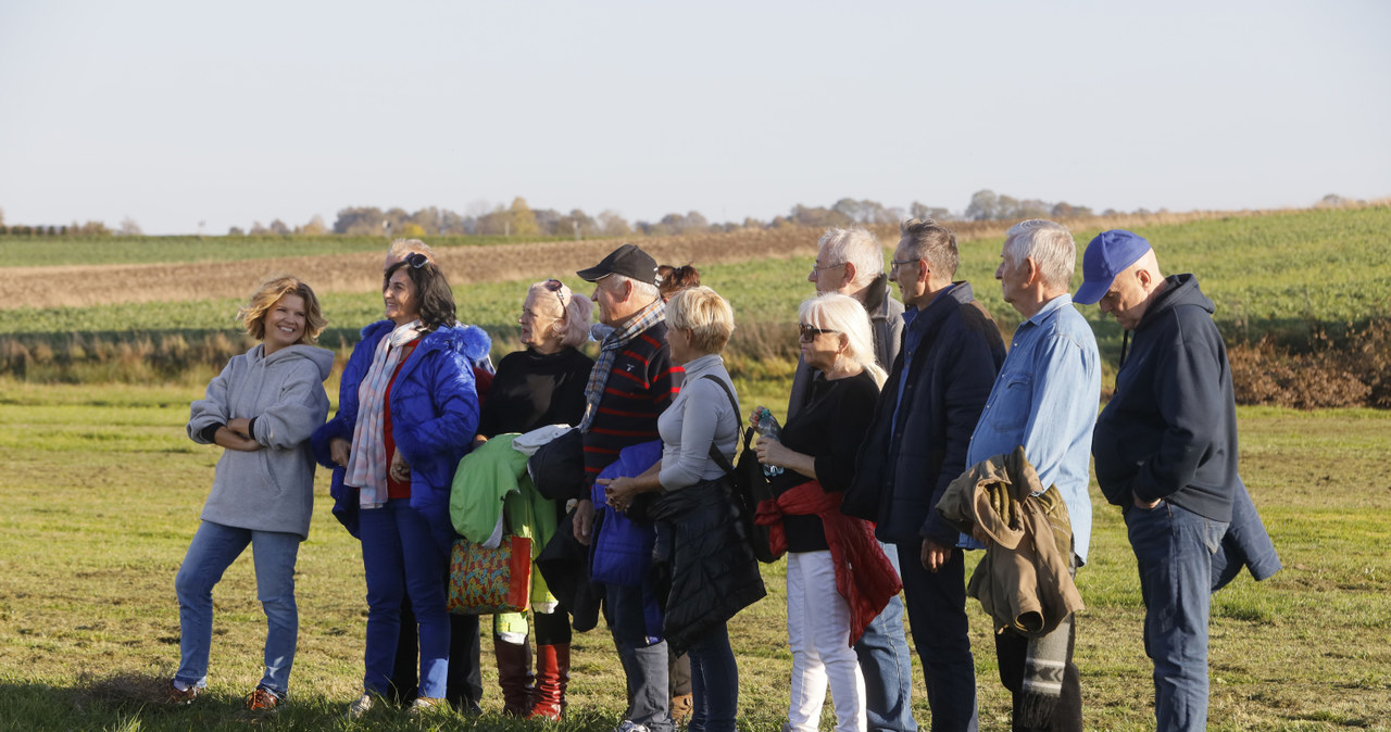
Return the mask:
[[[903,593],[912,644],[922,657],[933,732],[975,732],[975,657],[965,615],[965,560],[953,549],[935,574],[922,568],[922,544],[900,543]]]

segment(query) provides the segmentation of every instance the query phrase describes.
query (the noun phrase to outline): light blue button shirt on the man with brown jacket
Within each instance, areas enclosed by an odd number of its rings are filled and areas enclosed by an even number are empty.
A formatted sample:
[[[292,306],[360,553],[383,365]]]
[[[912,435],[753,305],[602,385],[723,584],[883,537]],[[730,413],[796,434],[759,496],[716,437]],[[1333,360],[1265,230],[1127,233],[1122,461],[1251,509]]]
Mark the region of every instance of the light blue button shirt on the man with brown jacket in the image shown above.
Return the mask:
[[[1067,504],[1077,556],[1086,561],[1092,499],[1086,492],[1092,428],[1102,397],[1096,336],[1070,294],[1020,324],[990,399],[971,435],[967,465],[1024,446],[1045,486]]]

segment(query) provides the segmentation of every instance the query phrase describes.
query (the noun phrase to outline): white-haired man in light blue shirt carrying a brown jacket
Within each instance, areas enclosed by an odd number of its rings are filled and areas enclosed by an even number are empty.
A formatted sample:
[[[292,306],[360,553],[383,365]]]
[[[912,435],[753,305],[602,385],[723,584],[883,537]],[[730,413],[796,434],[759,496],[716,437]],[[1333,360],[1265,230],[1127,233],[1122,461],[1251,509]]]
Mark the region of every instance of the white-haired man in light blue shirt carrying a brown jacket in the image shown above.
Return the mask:
[[[1086,561],[1092,500],[1086,493],[1092,428],[1102,394],[1096,336],[1068,296],[1077,243],[1061,224],[1031,219],[1004,235],[1000,281],[1004,301],[1024,322],[971,435],[965,464],[1024,446],[1039,485],[1056,486],[1072,526],[1074,567]],[[1050,633],[995,636],[1000,681],[1014,697],[1015,731],[1081,731],[1082,683],[1072,664],[1075,621]]]

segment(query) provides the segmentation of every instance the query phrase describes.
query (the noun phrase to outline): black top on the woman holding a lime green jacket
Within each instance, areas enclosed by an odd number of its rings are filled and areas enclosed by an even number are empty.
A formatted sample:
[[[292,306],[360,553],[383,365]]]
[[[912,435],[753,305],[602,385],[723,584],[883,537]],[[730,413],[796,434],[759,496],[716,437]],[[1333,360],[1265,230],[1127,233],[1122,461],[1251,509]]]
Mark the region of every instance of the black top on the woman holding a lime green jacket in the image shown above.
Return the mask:
[[[479,415],[479,435],[491,439],[545,425],[580,424],[591,368],[594,361],[574,349],[552,354],[526,349],[504,356]]]

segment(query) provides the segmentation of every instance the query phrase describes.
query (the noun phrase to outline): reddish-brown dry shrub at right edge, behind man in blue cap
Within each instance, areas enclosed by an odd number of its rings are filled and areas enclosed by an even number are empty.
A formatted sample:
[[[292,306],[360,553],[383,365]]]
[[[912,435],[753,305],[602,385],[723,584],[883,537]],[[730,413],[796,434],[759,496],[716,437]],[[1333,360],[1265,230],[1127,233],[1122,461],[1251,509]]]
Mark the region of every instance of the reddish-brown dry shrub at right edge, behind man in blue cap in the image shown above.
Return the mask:
[[[1227,357],[1238,404],[1391,408],[1391,319],[1349,326],[1340,339],[1317,328],[1299,353],[1263,336]]]

